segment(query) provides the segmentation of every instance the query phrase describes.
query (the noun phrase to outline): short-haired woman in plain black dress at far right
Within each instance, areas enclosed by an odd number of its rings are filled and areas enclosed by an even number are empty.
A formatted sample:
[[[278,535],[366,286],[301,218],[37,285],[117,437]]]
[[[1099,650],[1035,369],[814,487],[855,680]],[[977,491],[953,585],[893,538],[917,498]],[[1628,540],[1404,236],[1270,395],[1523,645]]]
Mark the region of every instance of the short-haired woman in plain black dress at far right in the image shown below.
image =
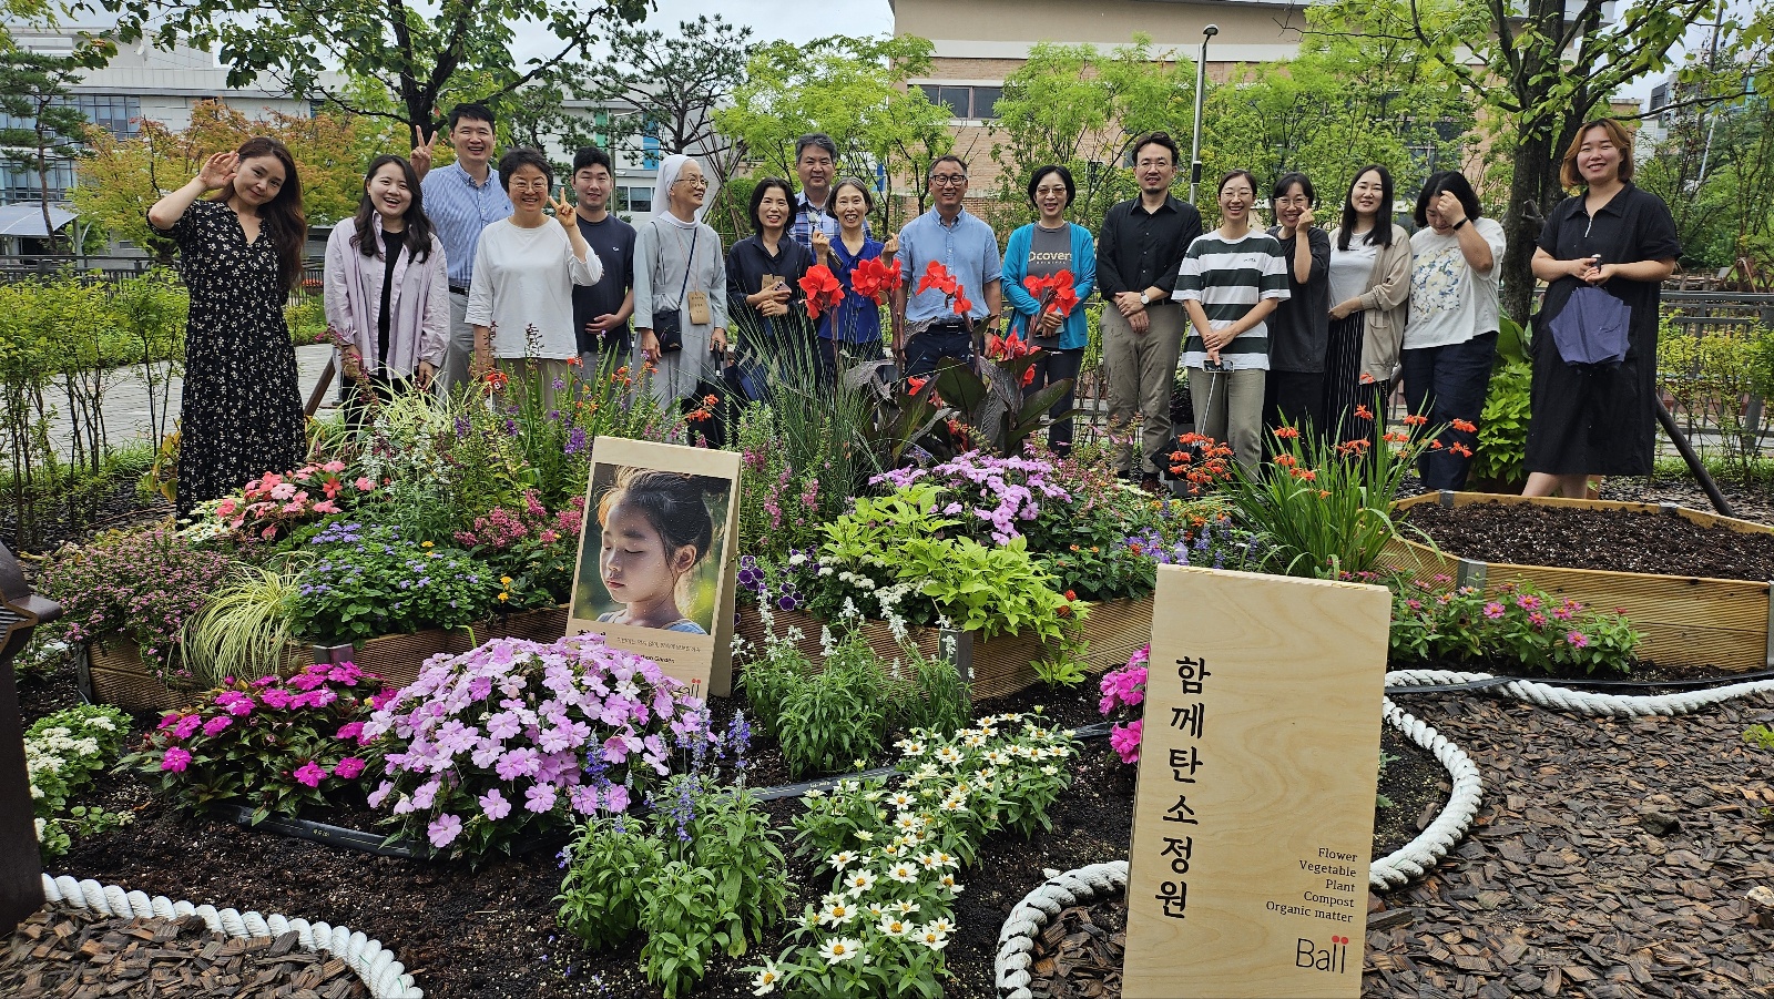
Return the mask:
[[[1522,495],[1582,499],[1591,476],[1648,476],[1657,435],[1657,312],[1662,282],[1682,254],[1657,195],[1632,185],[1632,137],[1614,121],[1582,126],[1559,181],[1586,186],[1547,216],[1535,277],[1547,282],[1535,316],[1533,421]],[[1600,287],[1629,309],[1621,364],[1566,364],[1550,323],[1579,287]]]

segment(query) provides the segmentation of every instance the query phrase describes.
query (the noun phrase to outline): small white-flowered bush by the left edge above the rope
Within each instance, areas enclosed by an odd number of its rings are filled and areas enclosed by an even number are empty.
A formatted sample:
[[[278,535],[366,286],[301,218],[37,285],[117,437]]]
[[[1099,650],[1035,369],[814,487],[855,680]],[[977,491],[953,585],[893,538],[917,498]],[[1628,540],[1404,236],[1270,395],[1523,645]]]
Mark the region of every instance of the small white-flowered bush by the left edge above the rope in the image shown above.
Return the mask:
[[[71,804],[94,774],[110,767],[128,735],[130,717],[98,704],[64,708],[25,729],[25,774],[44,861],[66,853],[78,836],[130,822],[130,813]]]

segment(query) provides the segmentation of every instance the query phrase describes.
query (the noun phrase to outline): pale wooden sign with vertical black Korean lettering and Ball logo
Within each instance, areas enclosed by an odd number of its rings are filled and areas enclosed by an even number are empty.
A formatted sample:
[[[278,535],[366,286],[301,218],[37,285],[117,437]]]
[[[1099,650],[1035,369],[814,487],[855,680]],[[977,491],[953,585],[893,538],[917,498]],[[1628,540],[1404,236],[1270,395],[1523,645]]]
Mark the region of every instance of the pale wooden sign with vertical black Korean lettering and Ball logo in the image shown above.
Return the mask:
[[[1158,568],[1128,999],[1361,995],[1391,596]]]

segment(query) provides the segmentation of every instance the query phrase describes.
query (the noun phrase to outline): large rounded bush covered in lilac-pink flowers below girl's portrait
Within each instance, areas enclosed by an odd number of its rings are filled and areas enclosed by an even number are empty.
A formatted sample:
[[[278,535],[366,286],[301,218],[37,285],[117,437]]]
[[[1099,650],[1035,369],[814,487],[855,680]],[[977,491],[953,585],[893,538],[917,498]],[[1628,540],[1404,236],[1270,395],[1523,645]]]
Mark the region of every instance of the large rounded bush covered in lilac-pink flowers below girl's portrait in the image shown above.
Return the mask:
[[[389,736],[371,793],[410,839],[451,855],[511,850],[571,816],[624,813],[715,745],[688,685],[600,635],[498,639],[433,657],[365,728]]]

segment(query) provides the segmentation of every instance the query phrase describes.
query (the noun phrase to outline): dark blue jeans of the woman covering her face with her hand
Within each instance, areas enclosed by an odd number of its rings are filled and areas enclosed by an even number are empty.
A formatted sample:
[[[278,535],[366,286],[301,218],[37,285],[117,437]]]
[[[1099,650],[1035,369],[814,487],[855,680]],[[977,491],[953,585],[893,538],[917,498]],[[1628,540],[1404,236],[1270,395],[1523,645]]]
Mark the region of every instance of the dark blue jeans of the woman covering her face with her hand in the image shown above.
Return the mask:
[[[1490,366],[1497,358],[1495,330],[1462,344],[1426,346],[1403,351],[1405,405],[1412,413],[1430,419],[1428,426],[1446,426],[1467,421],[1478,426],[1485,412],[1485,392],[1490,390]],[[1439,451],[1425,451],[1417,458],[1417,474],[1425,490],[1462,490],[1465,472],[1472,467],[1471,451],[1478,435],[1448,429],[1440,435]],[[1467,454],[1455,454],[1460,444]]]

